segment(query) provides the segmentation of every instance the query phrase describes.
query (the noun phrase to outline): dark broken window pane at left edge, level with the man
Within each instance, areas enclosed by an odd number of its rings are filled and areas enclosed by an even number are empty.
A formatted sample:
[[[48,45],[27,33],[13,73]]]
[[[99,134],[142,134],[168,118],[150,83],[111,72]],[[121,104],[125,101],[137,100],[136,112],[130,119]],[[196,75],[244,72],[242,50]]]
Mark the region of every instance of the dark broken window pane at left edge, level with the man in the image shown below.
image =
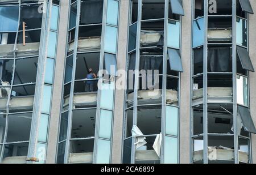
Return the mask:
[[[0,59],[0,78],[1,86],[10,86],[13,79],[13,59]],[[1,89],[3,91],[3,89]],[[9,90],[10,91],[10,90]],[[3,92],[2,92],[3,95]],[[6,91],[6,95],[7,91]]]

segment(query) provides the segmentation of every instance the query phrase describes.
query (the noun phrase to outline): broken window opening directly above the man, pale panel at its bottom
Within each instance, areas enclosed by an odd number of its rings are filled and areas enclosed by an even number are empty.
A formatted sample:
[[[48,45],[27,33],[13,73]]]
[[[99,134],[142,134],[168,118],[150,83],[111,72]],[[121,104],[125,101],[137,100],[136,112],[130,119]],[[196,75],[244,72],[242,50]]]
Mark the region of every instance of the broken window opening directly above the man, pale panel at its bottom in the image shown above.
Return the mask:
[[[77,52],[88,52],[88,51],[100,50],[101,29],[102,29],[102,25],[89,25],[89,26],[79,27],[79,40],[77,43]],[[114,36],[110,36],[110,37],[114,37]],[[69,47],[71,47],[73,44],[74,42],[72,42],[69,45]]]

